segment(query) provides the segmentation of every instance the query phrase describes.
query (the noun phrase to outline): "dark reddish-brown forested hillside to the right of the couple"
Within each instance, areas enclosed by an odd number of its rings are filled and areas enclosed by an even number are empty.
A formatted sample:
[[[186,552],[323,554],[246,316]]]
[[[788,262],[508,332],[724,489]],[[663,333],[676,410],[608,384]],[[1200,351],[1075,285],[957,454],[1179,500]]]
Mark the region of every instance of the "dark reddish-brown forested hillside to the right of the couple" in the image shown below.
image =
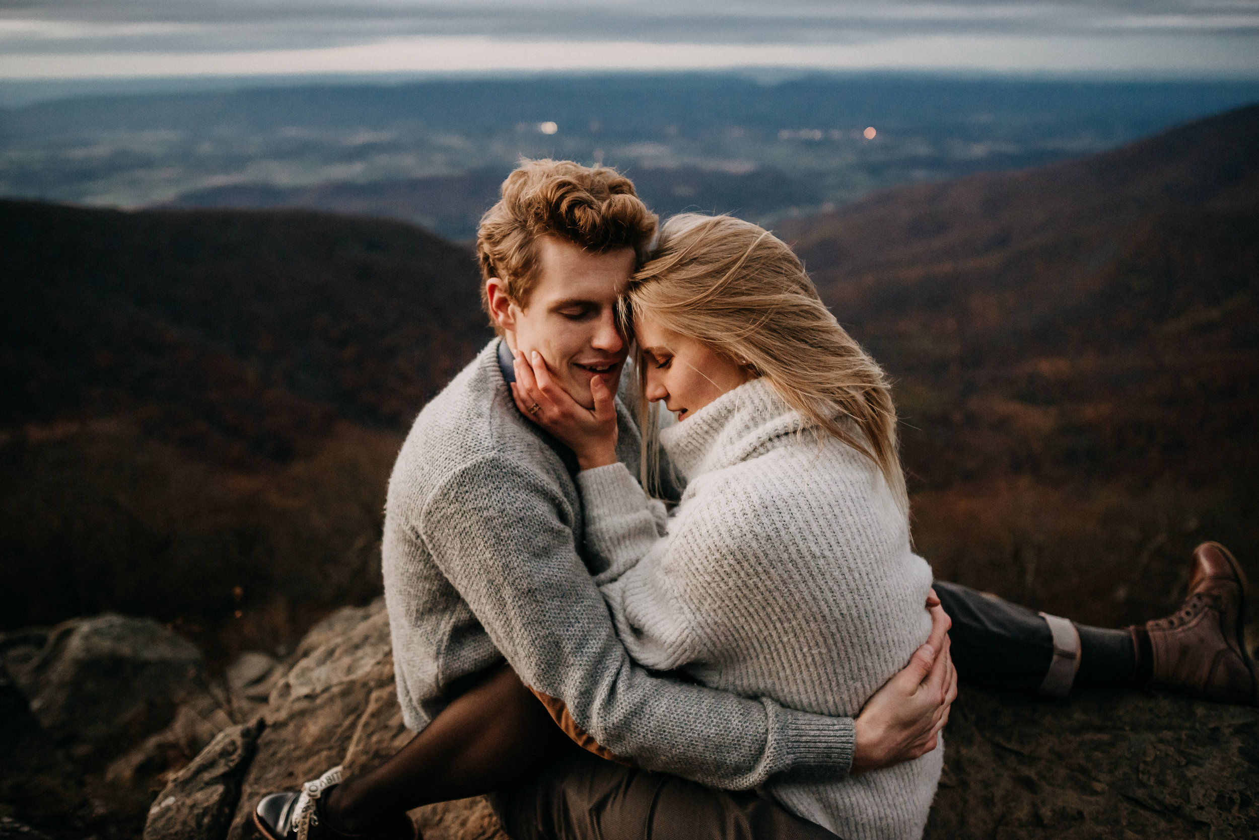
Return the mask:
[[[782,226],[898,379],[938,573],[1118,624],[1200,539],[1259,572],[1255,148],[1250,107]]]

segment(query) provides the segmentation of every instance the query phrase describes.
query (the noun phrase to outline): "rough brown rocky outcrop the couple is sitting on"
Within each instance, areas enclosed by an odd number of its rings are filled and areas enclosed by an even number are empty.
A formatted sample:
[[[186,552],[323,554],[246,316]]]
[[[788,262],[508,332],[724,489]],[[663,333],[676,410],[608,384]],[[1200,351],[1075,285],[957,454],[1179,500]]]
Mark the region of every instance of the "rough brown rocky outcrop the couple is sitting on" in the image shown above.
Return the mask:
[[[410,737],[380,602],[329,616],[283,661],[242,656],[230,695],[186,643],[120,616],[0,636],[0,837],[121,840],[147,814],[146,840],[244,840],[264,793]],[[1254,708],[963,685],[927,837],[1259,836],[1256,744]],[[483,799],[412,817],[429,840],[505,840]]]

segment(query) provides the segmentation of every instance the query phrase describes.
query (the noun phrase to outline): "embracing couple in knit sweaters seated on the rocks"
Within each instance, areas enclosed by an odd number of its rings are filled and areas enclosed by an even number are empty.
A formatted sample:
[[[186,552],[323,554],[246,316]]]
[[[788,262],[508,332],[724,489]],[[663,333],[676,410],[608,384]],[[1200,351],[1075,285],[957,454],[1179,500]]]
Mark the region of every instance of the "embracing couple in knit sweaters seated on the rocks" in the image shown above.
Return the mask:
[[[531,161],[477,253],[499,336],[387,504],[418,734],[263,799],[266,836],[410,839],[407,810],[492,793],[515,840],[917,837],[958,671],[1255,702],[1215,543],[1183,615],[1123,630],[933,586],[888,380],[771,233],[657,231],[614,171]]]

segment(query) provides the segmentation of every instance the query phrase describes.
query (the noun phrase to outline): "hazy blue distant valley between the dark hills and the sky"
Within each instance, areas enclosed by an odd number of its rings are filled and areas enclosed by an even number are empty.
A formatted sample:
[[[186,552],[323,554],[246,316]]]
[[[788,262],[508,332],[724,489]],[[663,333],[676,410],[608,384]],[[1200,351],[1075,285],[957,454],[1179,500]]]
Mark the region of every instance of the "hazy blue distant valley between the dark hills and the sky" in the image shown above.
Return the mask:
[[[296,206],[466,240],[521,156],[567,157],[617,166],[663,214],[776,224],[1255,101],[1243,82],[686,73],[81,97],[0,111],[0,195]]]

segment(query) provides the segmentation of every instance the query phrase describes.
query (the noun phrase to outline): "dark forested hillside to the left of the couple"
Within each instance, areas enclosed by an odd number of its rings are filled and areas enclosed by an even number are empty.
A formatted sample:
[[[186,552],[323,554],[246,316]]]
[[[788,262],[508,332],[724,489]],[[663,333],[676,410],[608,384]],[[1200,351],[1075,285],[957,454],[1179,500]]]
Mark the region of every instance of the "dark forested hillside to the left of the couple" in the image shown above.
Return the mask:
[[[400,435],[490,336],[472,255],[312,213],[0,202],[0,621],[223,655],[379,590]]]

